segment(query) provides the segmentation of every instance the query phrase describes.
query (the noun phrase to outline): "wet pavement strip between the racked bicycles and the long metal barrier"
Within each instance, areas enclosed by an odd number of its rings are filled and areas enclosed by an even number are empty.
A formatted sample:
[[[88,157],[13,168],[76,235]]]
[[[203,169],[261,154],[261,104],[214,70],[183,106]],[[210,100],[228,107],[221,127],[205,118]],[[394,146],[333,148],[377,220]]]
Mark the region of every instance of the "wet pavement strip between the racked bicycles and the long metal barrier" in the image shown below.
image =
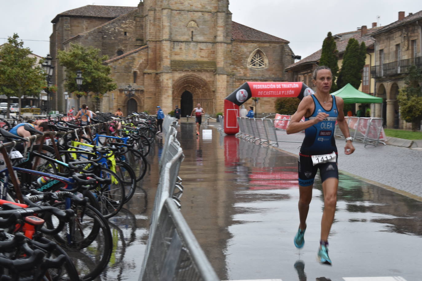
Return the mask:
[[[96,281],[137,281],[148,240],[151,211],[158,183],[158,153],[162,144],[147,155],[149,167],[141,185],[119,214],[108,219],[113,236],[113,254],[108,268]]]

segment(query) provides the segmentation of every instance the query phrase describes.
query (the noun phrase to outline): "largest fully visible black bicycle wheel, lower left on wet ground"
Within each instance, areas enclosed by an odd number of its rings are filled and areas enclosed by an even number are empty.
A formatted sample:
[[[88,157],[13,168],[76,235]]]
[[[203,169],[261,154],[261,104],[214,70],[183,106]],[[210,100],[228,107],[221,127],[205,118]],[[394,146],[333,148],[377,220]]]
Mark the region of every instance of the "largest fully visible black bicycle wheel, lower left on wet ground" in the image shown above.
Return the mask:
[[[53,206],[66,209],[65,202]],[[93,280],[110,260],[113,250],[111,230],[107,220],[94,207],[72,204],[71,209],[75,212],[73,219],[53,238],[69,255],[81,280]],[[49,223],[56,227],[59,221],[52,216]]]

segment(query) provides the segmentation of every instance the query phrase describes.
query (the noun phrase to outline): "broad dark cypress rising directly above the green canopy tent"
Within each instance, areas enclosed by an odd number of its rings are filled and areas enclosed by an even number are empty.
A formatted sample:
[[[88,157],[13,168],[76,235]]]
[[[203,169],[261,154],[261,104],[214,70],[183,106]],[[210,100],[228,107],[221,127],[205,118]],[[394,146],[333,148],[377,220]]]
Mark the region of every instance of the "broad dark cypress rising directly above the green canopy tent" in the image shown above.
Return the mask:
[[[365,66],[365,59],[365,43],[362,42],[359,45],[356,39],[350,38],[346,51],[344,52],[341,70],[337,79],[338,89],[343,88],[347,83],[350,83],[354,88],[359,88],[360,82],[362,81],[362,69]]]

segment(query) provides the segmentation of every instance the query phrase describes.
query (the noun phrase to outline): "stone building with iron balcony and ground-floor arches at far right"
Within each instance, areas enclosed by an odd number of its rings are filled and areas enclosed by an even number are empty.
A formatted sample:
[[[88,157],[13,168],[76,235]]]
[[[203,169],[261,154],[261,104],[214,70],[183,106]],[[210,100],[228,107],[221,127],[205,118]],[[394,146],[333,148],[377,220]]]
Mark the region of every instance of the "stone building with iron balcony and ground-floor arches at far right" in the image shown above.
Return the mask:
[[[383,117],[387,128],[411,128],[399,116],[397,95],[405,86],[409,67],[422,68],[422,11],[398,12],[398,20],[373,32],[375,62],[371,77],[375,78],[376,96],[384,99],[375,105],[375,116]]]

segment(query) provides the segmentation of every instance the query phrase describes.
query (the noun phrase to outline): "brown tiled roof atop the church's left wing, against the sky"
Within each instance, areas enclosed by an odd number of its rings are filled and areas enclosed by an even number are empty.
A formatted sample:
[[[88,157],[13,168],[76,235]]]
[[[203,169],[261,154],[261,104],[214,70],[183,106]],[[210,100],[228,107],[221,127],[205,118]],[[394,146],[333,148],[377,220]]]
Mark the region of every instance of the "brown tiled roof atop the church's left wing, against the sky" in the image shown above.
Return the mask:
[[[62,16],[81,16],[114,19],[134,9],[136,9],[136,7],[86,5],[80,8],[59,13],[51,22],[56,23],[58,19]]]

